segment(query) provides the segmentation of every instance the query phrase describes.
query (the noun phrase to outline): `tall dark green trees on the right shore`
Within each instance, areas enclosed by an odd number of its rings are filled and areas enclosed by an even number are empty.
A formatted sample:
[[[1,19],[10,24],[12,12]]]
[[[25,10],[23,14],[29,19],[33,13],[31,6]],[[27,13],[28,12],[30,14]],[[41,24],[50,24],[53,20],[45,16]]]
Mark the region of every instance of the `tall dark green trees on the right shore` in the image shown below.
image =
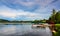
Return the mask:
[[[60,11],[56,12],[55,9],[53,9],[52,15],[49,17],[49,21],[60,23]]]

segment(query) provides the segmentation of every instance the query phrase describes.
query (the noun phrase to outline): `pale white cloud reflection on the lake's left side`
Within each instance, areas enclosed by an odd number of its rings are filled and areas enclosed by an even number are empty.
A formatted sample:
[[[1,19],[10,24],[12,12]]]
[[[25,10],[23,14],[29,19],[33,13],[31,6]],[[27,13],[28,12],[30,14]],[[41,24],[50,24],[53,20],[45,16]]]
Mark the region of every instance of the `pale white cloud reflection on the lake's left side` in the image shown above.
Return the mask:
[[[2,34],[14,34],[15,32],[16,32],[15,26],[4,27],[3,29],[0,30],[0,33]]]

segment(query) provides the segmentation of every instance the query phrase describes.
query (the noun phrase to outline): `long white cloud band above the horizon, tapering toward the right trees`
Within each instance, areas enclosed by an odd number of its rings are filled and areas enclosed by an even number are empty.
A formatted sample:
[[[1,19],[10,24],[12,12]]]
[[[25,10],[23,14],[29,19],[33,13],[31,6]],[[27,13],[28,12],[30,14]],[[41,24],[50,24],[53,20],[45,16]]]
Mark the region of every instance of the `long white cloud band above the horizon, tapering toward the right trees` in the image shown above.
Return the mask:
[[[1,6],[0,8],[0,18],[10,19],[10,20],[35,20],[48,18],[50,14],[42,14],[41,12],[28,12],[24,10],[14,10],[6,6]],[[45,16],[44,16],[45,15]],[[2,17],[1,17],[2,16]]]

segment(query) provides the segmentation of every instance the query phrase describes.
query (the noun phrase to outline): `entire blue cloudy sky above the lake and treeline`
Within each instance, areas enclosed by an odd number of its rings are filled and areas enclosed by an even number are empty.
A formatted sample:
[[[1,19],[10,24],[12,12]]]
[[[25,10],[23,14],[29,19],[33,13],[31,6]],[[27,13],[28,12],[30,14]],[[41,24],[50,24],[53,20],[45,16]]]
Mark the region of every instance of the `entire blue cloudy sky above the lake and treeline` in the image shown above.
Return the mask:
[[[42,20],[60,10],[60,0],[0,0],[0,19]]]

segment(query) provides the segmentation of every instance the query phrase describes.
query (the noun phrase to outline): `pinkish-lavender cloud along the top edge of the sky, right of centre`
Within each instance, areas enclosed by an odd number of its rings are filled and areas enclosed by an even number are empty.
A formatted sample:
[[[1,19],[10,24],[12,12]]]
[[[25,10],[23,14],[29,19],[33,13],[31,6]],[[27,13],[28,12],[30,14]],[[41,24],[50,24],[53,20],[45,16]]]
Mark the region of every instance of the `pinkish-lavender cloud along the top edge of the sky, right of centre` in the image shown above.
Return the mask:
[[[22,5],[27,6],[27,7],[30,7],[30,6],[32,7],[34,5],[46,6],[54,0],[32,0],[32,1],[25,0],[25,1],[27,1],[27,2],[24,2],[24,0],[23,1],[15,0],[13,3],[14,4],[22,4]]]

